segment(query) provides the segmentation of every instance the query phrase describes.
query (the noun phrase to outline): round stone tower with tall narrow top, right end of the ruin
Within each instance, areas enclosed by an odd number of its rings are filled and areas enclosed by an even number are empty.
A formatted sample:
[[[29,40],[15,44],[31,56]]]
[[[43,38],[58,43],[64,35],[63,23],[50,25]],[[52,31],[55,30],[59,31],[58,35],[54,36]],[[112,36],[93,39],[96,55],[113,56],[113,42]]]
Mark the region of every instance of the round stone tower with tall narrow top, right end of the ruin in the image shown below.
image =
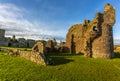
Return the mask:
[[[113,52],[113,32],[112,26],[115,23],[115,9],[107,4],[104,8],[101,36],[94,40],[92,44],[94,58],[111,58]]]

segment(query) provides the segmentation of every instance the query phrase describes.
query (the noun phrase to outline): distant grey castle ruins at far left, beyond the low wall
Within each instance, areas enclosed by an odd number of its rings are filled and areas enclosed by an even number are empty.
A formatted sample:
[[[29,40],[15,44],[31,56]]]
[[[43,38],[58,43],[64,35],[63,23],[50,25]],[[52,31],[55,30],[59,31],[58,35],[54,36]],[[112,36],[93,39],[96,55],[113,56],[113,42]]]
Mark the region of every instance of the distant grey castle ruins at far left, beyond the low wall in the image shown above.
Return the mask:
[[[16,39],[15,35],[10,37],[5,37],[5,30],[0,29],[0,46],[9,46],[9,47],[33,47],[35,40],[19,38]]]

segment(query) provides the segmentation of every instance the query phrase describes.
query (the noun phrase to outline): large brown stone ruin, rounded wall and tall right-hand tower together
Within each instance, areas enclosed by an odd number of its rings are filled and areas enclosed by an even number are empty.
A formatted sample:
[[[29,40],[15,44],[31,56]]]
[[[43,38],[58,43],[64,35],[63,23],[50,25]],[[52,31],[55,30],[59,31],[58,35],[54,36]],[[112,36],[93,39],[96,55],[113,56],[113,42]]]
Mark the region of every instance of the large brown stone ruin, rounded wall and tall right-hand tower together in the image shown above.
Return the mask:
[[[106,4],[104,13],[97,13],[94,20],[73,25],[66,36],[70,53],[83,53],[87,57],[112,58],[115,9]]]

